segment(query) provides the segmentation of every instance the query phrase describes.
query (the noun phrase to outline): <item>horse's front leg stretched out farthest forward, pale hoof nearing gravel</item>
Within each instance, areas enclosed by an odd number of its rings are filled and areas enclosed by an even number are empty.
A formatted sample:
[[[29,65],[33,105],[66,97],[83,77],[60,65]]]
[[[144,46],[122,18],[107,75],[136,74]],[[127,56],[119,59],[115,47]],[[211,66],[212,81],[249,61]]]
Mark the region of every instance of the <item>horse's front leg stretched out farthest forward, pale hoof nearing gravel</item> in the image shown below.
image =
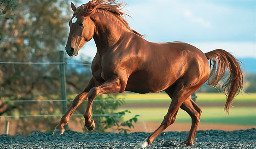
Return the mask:
[[[67,112],[62,116],[59,124],[54,129],[53,135],[61,135],[64,133],[64,126],[68,124],[71,115],[75,112],[76,108],[87,98],[88,91],[95,85],[97,85],[97,82],[92,78],[86,86],[86,88],[84,89],[84,91],[82,91],[79,95],[76,96],[76,98],[68,108]]]

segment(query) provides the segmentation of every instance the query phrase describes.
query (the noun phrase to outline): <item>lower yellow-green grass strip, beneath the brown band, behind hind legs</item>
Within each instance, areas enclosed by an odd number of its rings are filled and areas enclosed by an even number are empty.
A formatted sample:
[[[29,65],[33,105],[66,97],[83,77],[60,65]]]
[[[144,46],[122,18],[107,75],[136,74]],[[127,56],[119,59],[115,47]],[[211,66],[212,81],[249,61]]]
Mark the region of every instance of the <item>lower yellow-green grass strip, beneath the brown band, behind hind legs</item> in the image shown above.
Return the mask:
[[[120,108],[119,110],[125,109]],[[167,113],[168,105],[162,108],[129,108],[129,110],[132,112],[131,114],[141,114],[138,117],[139,122],[162,122],[164,115]],[[202,111],[200,123],[254,125],[256,127],[255,107],[231,107],[230,115],[224,112],[223,107],[203,107]],[[126,115],[124,119],[132,117]],[[191,118],[180,109],[175,122],[191,122]]]

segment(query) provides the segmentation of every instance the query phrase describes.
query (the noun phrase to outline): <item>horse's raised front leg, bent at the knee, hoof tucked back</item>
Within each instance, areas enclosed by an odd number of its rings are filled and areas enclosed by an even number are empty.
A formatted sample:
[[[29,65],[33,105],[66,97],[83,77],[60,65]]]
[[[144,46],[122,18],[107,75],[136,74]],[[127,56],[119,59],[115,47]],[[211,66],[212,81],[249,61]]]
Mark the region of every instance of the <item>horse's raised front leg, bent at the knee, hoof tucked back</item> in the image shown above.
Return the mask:
[[[93,87],[88,93],[88,102],[87,108],[84,113],[85,126],[88,130],[92,131],[95,128],[94,120],[92,119],[92,102],[93,99],[101,94],[109,94],[115,92],[123,92],[126,86],[125,81],[120,80],[119,78],[112,77],[108,81]]]

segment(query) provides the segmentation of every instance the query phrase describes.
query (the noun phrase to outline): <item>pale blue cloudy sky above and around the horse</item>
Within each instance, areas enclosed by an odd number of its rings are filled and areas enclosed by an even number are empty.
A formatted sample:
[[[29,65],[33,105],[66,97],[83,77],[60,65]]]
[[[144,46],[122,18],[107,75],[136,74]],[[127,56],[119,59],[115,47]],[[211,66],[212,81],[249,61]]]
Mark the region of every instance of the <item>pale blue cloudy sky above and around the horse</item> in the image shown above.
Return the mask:
[[[150,42],[183,41],[204,53],[224,49],[237,58],[256,58],[255,0],[124,2],[132,17],[126,17],[130,27]],[[83,3],[87,1],[75,5]],[[86,43],[79,54],[93,58],[94,41]]]

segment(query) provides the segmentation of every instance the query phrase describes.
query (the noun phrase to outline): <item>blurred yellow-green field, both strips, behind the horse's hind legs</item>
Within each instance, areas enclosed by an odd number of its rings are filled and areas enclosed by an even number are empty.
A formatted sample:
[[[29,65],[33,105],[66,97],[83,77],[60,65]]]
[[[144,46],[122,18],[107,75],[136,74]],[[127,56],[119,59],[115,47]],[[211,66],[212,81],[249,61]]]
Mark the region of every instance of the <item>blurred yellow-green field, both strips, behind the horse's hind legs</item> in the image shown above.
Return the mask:
[[[226,96],[221,93],[196,93],[197,103],[209,103],[209,106],[202,107],[200,123],[216,124],[235,124],[235,125],[254,125],[256,127],[256,93],[239,94],[234,99],[234,105],[239,103],[248,103],[252,106],[235,106],[230,108],[229,115],[224,111]],[[139,122],[162,122],[164,115],[167,113],[171,99],[165,93],[155,94],[136,94],[126,92],[116,95],[116,98],[125,98],[127,104],[145,104],[145,103],[166,103],[163,107],[123,107],[119,110],[128,109],[131,114],[140,114]],[[158,99],[157,99],[158,98]],[[148,100],[147,100],[148,99]],[[212,107],[211,103],[223,103],[223,106]],[[222,104],[221,104],[222,105]],[[132,115],[126,115],[125,119],[131,118]],[[176,122],[191,122],[189,115],[182,109],[179,110]]]

